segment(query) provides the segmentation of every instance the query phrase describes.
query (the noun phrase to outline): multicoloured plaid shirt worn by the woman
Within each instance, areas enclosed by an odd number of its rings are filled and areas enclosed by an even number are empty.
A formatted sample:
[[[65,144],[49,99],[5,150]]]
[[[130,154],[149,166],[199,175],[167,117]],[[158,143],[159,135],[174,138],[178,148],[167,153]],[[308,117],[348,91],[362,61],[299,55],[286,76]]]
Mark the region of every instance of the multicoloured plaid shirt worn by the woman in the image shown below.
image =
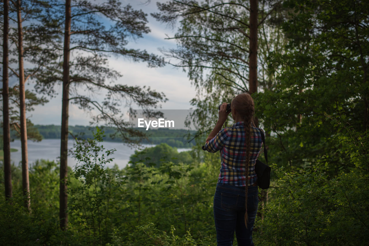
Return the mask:
[[[251,127],[248,186],[252,186],[258,180],[255,173],[255,163],[263,145],[259,129],[261,128]],[[245,138],[244,122],[241,121],[235,123],[232,127],[222,129],[213,139],[203,146],[203,150],[211,153],[220,150],[221,167],[218,183],[231,184],[233,186],[246,185]]]

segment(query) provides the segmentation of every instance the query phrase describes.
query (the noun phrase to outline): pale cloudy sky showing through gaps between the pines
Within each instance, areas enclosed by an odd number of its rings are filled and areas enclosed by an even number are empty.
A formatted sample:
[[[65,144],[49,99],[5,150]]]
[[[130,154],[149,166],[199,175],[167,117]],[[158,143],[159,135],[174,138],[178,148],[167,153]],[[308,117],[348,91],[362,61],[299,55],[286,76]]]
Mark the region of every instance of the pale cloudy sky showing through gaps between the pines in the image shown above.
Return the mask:
[[[149,53],[162,55],[158,48],[175,48],[176,42],[166,40],[168,36],[173,37],[176,31],[156,21],[150,13],[158,12],[157,1],[126,0],[121,1],[123,5],[131,4],[134,9],[142,9],[148,14],[148,27],[151,29],[149,34],[144,34],[143,38],[131,41],[128,48],[146,49]],[[166,2],[166,1],[161,1]],[[145,4],[143,4],[145,3]],[[162,103],[164,110],[188,110],[191,108],[190,100],[195,97],[196,91],[187,78],[187,73],[181,68],[166,65],[165,67],[149,68],[144,62],[131,62],[123,58],[111,58],[109,66],[123,74],[117,83],[138,86],[150,86],[151,89],[163,92],[168,101]],[[35,107],[34,111],[28,112],[27,117],[34,124],[40,125],[61,125],[61,86],[56,87],[59,91],[54,98],[45,105]],[[32,85],[28,86],[32,89]],[[103,96],[103,95],[101,95]],[[126,110],[126,109],[123,109]],[[92,112],[93,113],[93,112]],[[127,116],[128,120],[128,116]],[[80,110],[77,105],[69,104],[69,125],[89,125],[91,121],[90,113]]]

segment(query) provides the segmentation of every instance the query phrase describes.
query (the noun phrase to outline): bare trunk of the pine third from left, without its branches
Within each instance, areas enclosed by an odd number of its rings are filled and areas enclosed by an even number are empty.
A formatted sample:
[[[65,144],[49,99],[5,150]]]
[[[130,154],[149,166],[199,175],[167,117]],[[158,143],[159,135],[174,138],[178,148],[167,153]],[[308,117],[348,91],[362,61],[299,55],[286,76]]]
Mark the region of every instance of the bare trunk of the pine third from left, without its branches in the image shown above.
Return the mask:
[[[68,118],[69,118],[69,43],[71,22],[70,0],[65,2],[65,33],[64,33],[64,60],[63,60],[63,98],[62,98],[62,129],[60,146],[60,197],[59,218],[60,228],[68,227]]]

